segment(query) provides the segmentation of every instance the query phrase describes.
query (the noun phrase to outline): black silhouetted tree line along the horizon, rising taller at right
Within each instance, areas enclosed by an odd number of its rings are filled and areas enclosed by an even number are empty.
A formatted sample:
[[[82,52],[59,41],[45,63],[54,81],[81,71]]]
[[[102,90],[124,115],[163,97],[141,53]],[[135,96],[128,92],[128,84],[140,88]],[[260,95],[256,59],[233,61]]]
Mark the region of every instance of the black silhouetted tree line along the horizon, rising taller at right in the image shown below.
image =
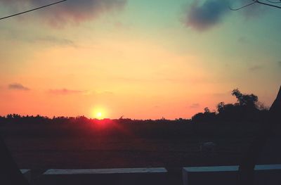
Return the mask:
[[[196,122],[226,122],[226,121],[244,121],[244,122],[261,122],[268,119],[268,108],[259,102],[258,96],[254,94],[242,94],[239,89],[233,89],[232,96],[237,99],[236,103],[220,102],[216,110],[211,111],[204,108],[203,113],[197,113],[192,116],[191,120],[178,118],[176,120],[166,120],[162,117],[159,120],[131,120],[124,119],[92,119],[84,115],[77,117],[46,117],[41,115],[18,115],[8,114],[0,116],[0,123],[98,123],[98,122],[119,122],[119,123],[196,123]]]

